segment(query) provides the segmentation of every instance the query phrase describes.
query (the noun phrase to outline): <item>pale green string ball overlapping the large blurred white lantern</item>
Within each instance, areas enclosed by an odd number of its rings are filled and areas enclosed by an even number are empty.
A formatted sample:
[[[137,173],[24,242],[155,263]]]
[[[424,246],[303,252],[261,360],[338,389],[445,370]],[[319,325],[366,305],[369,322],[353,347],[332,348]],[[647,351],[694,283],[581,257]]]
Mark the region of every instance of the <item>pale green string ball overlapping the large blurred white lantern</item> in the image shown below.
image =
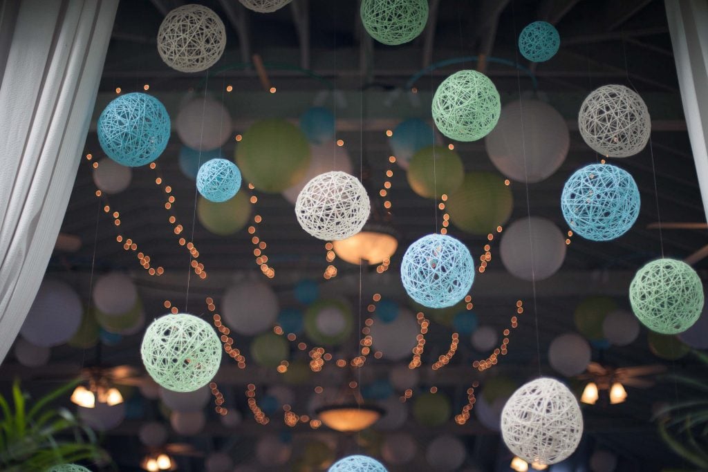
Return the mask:
[[[457,141],[476,141],[494,129],[501,114],[499,93],[477,71],[447,77],[433,96],[433,120],[442,134]]]

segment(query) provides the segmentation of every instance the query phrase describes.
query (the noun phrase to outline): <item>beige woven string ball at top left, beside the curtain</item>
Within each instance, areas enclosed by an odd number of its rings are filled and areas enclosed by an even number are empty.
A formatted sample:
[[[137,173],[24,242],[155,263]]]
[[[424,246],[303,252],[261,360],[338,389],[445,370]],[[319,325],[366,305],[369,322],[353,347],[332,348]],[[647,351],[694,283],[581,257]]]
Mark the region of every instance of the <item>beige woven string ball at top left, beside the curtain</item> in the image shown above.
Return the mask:
[[[198,72],[209,69],[222,57],[226,28],[221,18],[206,6],[189,4],[167,13],[157,32],[157,52],[172,69]]]

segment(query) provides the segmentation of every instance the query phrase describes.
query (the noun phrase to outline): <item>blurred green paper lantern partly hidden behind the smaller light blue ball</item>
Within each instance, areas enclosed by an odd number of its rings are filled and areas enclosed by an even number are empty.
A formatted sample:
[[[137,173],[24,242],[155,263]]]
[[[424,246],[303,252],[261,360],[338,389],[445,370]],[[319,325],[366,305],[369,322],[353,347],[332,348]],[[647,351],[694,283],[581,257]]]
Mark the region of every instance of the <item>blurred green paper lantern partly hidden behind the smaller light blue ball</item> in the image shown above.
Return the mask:
[[[200,195],[197,202],[197,217],[208,231],[218,236],[229,236],[241,231],[251,218],[251,202],[245,190],[236,193],[231,200],[222,203],[210,202]]]

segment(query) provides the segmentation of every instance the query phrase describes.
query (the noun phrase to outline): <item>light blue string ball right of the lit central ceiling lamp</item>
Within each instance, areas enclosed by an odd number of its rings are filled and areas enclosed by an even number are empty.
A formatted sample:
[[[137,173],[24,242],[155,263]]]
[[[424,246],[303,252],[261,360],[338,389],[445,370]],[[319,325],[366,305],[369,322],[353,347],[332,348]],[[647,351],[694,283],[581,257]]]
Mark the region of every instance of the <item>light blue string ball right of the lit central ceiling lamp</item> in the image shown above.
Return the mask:
[[[452,236],[428,234],[404,254],[401,282],[409,296],[423,306],[452,306],[467,295],[474,282],[472,255]]]

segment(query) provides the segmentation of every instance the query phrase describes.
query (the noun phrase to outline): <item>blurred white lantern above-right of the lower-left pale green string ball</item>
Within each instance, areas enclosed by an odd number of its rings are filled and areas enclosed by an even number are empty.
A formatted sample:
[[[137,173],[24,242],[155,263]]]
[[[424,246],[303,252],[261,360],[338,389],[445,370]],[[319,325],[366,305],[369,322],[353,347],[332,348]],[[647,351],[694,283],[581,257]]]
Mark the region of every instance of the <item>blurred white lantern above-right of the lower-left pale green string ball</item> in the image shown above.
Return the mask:
[[[222,299],[222,311],[229,329],[251,336],[273,326],[280,306],[270,285],[247,280],[227,290]]]

